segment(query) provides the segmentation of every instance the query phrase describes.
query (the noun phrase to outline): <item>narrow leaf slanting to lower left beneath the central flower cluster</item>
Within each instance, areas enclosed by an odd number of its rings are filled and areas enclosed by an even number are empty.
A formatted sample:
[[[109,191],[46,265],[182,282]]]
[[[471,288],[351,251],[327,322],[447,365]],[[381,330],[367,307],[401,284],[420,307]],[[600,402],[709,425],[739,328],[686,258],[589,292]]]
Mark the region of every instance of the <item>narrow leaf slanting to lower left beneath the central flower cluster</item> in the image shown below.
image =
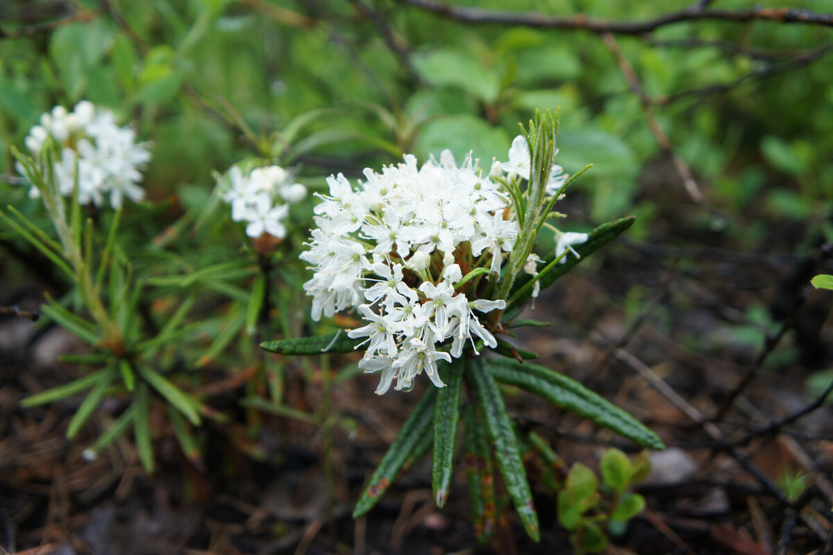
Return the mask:
[[[434,420],[434,404],[436,403],[436,388],[430,388],[416,403],[411,416],[402,424],[397,438],[382,457],[382,462],[370,478],[370,483],[362,492],[362,497],[353,510],[353,518],[361,517],[379,502],[379,499],[391,487],[402,466],[412,457],[416,448],[424,443],[424,435],[431,430]]]

